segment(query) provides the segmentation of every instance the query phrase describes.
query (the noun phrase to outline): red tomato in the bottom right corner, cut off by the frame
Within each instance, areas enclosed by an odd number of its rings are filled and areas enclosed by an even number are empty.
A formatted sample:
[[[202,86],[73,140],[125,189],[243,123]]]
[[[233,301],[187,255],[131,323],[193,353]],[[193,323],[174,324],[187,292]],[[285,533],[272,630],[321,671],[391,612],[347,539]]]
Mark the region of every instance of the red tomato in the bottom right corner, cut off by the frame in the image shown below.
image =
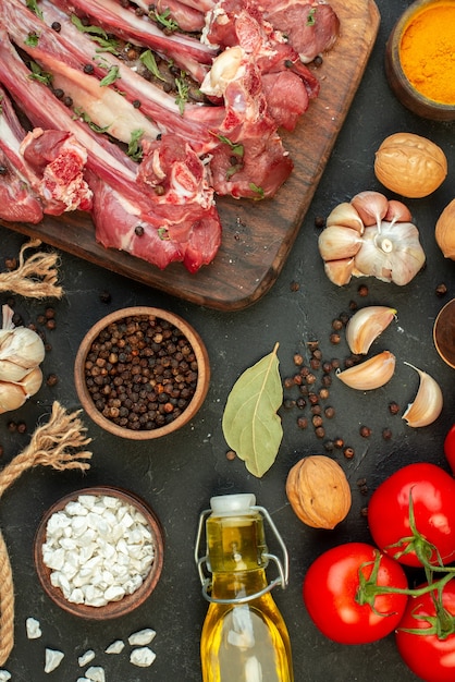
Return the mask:
[[[434,597],[436,593],[433,592]],[[452,579],[442,593],[442,605],[455,617],[455,579]],[[409,599],[403,620],[396,631],[398,651],[413,672],[426,682],[454,682],[455,680],[455,633],[445,638],[435,634],[414,634],[404,632],[418,630],[425,633],[431,623],[421,617],[434,618],[435,608],[431,593]]]

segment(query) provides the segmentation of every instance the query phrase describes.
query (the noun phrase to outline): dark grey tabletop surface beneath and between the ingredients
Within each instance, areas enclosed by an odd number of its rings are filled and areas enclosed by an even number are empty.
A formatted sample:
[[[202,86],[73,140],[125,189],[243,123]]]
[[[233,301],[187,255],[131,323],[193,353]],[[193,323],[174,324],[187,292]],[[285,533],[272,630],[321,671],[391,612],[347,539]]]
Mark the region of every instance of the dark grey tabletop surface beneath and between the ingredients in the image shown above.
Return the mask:
[[[4,668],[14,682],[59,680],[71,682],[83,674],[77,657],[87,648],[97,651],[93,665],[102,665],[108,682],[146,680],[200,680],[199,633],[207,610],[193,560],[198,516],[209,506],[212,495],[253,491],[258,504],[272,514],[291,556],[290,586],[274,596],[286,620],[294,650],[296,682],[406,682],[415,677],[396,651],[393,636],[368,646],[346,647],[325,640],[315,629],[302,602],[302,580],[310,562],[324,549],[347,540],[369,541],[370,535],[361,509],[368,495],[389,474],[414,461],[431,461],[446,467],[442,444],[453,423],[453,370],[436,354],[432,326],[442,305],[455,295],[455,265],[446,261],[434,241],[434,224],[442,209],[454,198],[455,149],[453,123],[420,120],[405,110],[391,94],[384,76],[386,38],[408,5],[407,2],[378,0],[381,26],[371,59],[333,154],[302,226],[291,256],[272,290],[253,307],[236,313],[220,313],[198,307],[127,279],[91,266],[64,253],[60,273],[65,295],[52,302],[57,329],[48,332],[52,350],[42,365],[45,375],[57,374],[56,387],[44,386],[37,397],[21,410],[0,416],[0,443],[3,464],[13,459],[29,441],[35,426],[49,416],[53,400],[66,409],[78,407],[73,382],[73,362],[77,346],[91,324],[112,309],[136,304],[162,306],[181,314],[202,336],[211,361],[212,379],[207,400],[194,422],[161,441],[132,443],[102,433],[88,417],[85,424],[93,438],[91,470],[58,473],[37,468],[25,473],[7,490],[0,503],[0,525],[9,547],[16,593],[15,647]],[[317,216],[327,216],[340,202],[362,190],[381,190],[374,179],[374,151],[382,139],[398,131],[430,137],[445,151],[448,178],[427,199],[407,202],[427,253],[427,267],[410,284],[397,288],[377,280],[364,280],[369,295],[357,293],[360,280],[339,289],[323,273],[318,254]],[[390,193],[385,192],[391,197]],[[271,216],[272,219],[272,216]],[[0,228],[1,269],[4,258],[17,255],[25,238]],[[299,289],[294,291],[292,282]],[[435,295],[444,282],[444,299]],[[108,291],[111,302],[103,303],[100,292]],[[8,294],[1,296],[4,303]],[[280,343],[282,377],[295,370],[293,355],[305,353],[306,343],[318,339],[324,357],[344,357],[347,349],[331,345],[331,322],[351,301],[360,305],[393,305],[398,321],[376,343],[397,356],[395,376],[384,388],[371,394],[358,394],[334,382],[330,403],[336,416],[328,423],[328,436],[342,436],[355,449],[351,461],[339,452],[353,491],[353,507],[347,519],[333,532],[318,532],[302,524],[292,512],[285,496],[285,479],[291,466],[306,454],[323,452],[312,429],[297,428],[298,411],[282,411],[284,437],[276,461],[262,479],[256,479],[239,460],[228,461],[221,429],[226,397],[238,375],[271,352]],[[16,297],[15,310],[25,322],[34,321],[48,302]],[[395,400],[402,412],[414,400],[418,376],[403,361],[431,374],[444,392],[441,417],[430,427],[411,429],[399,415],[392,417],[388,405]],[[286,392],[287,394],[287,392]],[[10,421],[24,421],[26,434],[12,434]],[[359,426],[372,429],[371,437],[360,438]],[[390,427],[393,438],[384,441],[381,431]],[[362,495],[358,479],[366,478]],[[144,497],[160,517],[165,533],[165,559],[162,577],[149,600],[131,616],[104,624],[84,622],[53,606],[42,593],[33,565],[33,539],[44,511],[65,492],[97,485],[121,485]],[[270,545],[273,541],[270,537]],[[33,616],[41,623],[42,637],[27,641],[25,620]],[[103,655],[115,638],[145,626],[156,629],[152,648],[157,660],[151,668],[138,669],[128,662],[128,649],[119,656]],[[45,647],[64,651],[60,668],[44,672]]]

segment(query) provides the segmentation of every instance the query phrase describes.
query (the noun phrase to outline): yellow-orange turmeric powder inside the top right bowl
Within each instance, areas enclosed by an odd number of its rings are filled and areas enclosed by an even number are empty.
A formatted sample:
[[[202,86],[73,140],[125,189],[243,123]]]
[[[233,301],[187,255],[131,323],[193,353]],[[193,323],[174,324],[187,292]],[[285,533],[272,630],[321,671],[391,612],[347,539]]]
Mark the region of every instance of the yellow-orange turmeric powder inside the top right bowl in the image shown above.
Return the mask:
[[[409,22],[399,61],[409,83],[425,97],[455,105],[455,2],[423,9]]]

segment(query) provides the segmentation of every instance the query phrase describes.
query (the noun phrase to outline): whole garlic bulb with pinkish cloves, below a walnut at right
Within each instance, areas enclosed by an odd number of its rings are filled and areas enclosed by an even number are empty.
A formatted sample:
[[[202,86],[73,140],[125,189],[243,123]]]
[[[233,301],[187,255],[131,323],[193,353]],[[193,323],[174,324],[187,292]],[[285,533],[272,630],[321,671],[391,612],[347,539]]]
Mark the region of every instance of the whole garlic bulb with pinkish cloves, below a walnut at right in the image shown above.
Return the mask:
[[[379,192],[360,192],[349,205],[339,204],[318,241],[325,275],[339,287],[352,277],[407,284],[426,261],[419,231],[410,219],[407,206]]]

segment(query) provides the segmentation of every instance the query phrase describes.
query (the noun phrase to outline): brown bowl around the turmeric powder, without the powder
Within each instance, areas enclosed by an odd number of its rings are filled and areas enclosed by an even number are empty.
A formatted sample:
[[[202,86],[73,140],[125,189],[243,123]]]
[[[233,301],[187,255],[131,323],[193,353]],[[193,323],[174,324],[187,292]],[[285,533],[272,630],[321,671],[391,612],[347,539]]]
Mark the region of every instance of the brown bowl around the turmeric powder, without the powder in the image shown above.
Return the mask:
[[[433,121],[455,120],[455,102],[442,103],[422,95],[407,78],[399,58],[401,44],[409,23],[421,12],[455,0],[417,0],[395,24],[385,48],[385,73],[397,99],[414,113]]]

